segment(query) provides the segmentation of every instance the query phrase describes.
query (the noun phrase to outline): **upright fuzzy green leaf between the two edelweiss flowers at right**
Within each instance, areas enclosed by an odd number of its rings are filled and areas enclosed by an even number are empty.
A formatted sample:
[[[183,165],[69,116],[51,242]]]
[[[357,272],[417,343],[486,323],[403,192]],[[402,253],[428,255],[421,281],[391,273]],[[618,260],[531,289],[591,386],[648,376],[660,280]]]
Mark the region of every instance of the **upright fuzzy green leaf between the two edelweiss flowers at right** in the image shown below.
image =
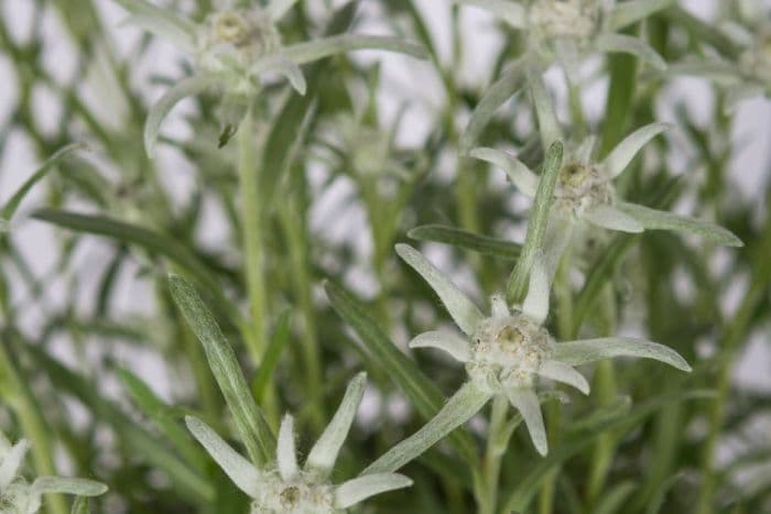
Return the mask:
[[[511,303],[520,303],[526,293],[525,287],[530,277],[530,269],[533,260],[542,251],[543,239],[546,233],[549,212],[554,199],[554,188],[562,168],[562,142],[555,141],[546,152],[543,164],[543,173],[539,183],[537,193],[528,222],[528,234],[524,237],[522,253],[514,270],[509,277],[507,298]]]

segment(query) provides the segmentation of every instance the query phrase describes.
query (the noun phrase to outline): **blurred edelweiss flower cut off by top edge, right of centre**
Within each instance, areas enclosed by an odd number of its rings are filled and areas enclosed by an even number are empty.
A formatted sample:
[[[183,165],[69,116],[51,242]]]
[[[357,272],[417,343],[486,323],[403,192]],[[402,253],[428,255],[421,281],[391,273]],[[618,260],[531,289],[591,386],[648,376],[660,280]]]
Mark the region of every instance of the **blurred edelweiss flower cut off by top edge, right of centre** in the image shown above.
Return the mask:
[[[566,70],[575,72],[580,57],[591,52],[623,52],[666,68],[664,59],[647,43],[618,31],[673,3],[669,0],[633,0],[618,6],[606,0],[454,1],[487,9],[525,32],[529,51],[544,65],[556,58]]]

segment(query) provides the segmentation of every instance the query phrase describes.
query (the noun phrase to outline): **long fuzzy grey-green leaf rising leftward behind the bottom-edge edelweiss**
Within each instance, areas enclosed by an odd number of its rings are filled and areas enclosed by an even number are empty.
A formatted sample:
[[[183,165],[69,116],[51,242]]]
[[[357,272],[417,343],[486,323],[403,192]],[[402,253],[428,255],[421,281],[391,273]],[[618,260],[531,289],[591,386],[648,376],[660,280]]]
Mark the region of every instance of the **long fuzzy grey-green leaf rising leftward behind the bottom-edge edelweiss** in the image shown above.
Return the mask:
[[[174,302],[204,346],[211,373],[230,408],[249,456],[258,467],[272,461],[275,436],[247,386],[236,352],[193,286],[176,275],[169,277],[169,285]]]

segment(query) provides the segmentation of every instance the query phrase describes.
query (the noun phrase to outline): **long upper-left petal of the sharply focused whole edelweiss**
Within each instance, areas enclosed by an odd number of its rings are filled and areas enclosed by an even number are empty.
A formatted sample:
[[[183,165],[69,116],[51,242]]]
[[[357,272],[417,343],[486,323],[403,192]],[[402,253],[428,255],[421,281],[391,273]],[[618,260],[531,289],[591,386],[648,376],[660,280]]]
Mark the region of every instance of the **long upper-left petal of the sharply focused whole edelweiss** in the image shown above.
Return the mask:
[[[442,298],[447,311],[466,336],[471,336],[485,316],[439,270],[409,244],[397,244],[397,253],[425,280]]]

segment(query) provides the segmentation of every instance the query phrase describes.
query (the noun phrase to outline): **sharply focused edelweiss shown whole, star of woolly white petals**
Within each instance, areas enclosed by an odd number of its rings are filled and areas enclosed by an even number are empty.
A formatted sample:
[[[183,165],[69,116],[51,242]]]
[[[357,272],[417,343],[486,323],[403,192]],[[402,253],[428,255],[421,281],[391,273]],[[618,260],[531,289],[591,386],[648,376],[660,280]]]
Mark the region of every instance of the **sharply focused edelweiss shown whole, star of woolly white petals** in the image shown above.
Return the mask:
[[[468,382],[434,419],[389,450],[367,472],[398,469],[404,463],[402,456],[414,458],[415,451],[405,451],[405,448],[420,445],[420,448],[427,449],[497,395],[508,398],[520,412],[535,449],[545,455],[546,431],[535,389],[540,379],[547,379],[588,394],[589,384],[574,365],[626,356],[655,359],[678,370],[691,371],[687,362],[674,350],[642,339],[611,337],[555,342],[543,327],[549,314],[550,284],[540,261],[533,265],[530,288],[521,308],[510,309],[503,298],[493,296],[491,314],[485,316],[415,249],[399,244],[397,253],[431,285],[463,332],[421,333],[410,347],[446,351],[465,364]]]

